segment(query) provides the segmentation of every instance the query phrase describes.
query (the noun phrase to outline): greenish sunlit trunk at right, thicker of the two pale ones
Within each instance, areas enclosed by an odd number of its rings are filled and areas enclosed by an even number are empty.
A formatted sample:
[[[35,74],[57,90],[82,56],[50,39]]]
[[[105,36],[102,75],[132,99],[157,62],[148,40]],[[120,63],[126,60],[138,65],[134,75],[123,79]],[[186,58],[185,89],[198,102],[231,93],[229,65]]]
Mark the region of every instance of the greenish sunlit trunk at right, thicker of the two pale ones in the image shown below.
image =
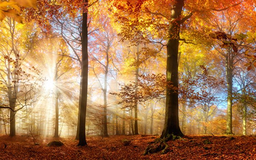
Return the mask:
[[[230,49],[231,50],[231,49]],[[232,86],[233,86],[233,62],[231,61],[231,51],[226,56],[226,82],[228,88],[227,97],[227,129],[226,134],[232,133]]]

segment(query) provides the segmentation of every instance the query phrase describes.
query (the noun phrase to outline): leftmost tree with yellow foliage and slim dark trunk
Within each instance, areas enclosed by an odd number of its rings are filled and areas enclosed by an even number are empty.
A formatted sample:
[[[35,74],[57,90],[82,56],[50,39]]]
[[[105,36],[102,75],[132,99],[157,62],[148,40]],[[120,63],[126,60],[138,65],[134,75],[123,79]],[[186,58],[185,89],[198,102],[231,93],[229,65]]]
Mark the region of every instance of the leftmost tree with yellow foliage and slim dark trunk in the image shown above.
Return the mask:
[[[1,90],[6,92],[9,99],[10,113],[10,136],[15,136],[15,114],[18,110],[21,110],[25,106],[29,105],[28,99],[25,98],[27,103],[22,103],[22,95],[28,95],[33,92],[34,83],[30,83],[31,87],[28,90],[28,84],[26,81],[31,81],[31,78],[38,78],[39,70],[31,68],[35,75],[31,75],[23,70],[23,64],[25,63],[27,55],[31,52],[34,45],[34,37],[36,36],[36,30],[33,30],[31,26],[20,26],[11,18],[6,18],[4,22],[1,22],[1,36],[5,37],[1,41],[1,62],[2,68],[0,72],[1,76]],[[27,27],[25,29],[25,27]],[[24,31],[22,32],[22,28]],[[28,29],[31,29],[32,32]],[[27,32],[28,31],[28,32]],[[27,32],[27,33],[25,33]],[[34,77],[35,76],[35,77]],[[39,78],[38,78],[39,79]],[[24,89],[26,92],[24,92]],[[32,98],[30,99],[32,100]],[[16,109],[16,106],[19,106]]]

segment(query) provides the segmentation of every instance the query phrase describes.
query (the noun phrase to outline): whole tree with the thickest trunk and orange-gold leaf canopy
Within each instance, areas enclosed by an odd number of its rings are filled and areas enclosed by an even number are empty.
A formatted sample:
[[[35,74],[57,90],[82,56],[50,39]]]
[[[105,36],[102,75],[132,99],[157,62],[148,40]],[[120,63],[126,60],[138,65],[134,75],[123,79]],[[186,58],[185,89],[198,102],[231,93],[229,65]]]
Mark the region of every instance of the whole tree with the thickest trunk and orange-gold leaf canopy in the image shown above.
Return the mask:
[[[220,7],[221,9],[216,9],[215,6],[218,6],[217,4],[220,4],[220,2],[222,2],[223,6]],[[186,2],[184,4],[183,0],[170,2],[154,0],[125,1],[119,3],[113,2],[113,6],[115,7],[113,12],[118,19],[117,21],[125,26],[120,32],[123,39],[129,39],[132,43],[154,43],[159,45],[160,50],[166,46],[167,82],[171,82],[175,87],[178,87],[177,61],[179,41],[187,42],[186,39],[180,38],[181,25],[192,17],[193,13],[200,18],[201,15],[197,13],[198,11],[209,15],[211,11],[223,11],[239,4],[241,4],[241,1],[230,4],[230,2],[220,0],[209,2],[207,6],[202,7],[195,5],[194,2]],[[169,6],[172,6],[171,10]],[[199,6],[199,8],[195,8],[195,6]],[[186,9],[183,10],[183,7]],[[120,11],[124,13],[120,13]],[[184,16],[183,13],[186,15]],[[126,14],[129,14],[129,18],[125,18],[124,15]],[[165,125],[161,138],[165,138],[170,134],[183,135],[179,127],[178,94],[177,92],[173,92],[172,89],[167,87]]]

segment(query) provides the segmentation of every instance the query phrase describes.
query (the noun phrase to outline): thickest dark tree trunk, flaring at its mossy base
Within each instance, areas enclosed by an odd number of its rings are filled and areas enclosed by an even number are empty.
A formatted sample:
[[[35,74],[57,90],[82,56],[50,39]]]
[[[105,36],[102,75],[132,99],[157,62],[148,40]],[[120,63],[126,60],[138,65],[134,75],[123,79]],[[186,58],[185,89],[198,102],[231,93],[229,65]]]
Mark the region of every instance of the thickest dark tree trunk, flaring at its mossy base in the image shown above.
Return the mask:
[[[184,0],[175,0],[175,4],[171,9],[171,22],[169,28],[169,40],[167,43],[167,66],[166,79],[171,82],[174,87],[178,87],[178,51],[180,37],[180,23]],[[166,110],[165,124],[161,134],[161,138],[165,138],[168,134],[183,135],[179,126],[179,103],[178,93],[173,91],[172,87],[167,86],[166,93]]]

